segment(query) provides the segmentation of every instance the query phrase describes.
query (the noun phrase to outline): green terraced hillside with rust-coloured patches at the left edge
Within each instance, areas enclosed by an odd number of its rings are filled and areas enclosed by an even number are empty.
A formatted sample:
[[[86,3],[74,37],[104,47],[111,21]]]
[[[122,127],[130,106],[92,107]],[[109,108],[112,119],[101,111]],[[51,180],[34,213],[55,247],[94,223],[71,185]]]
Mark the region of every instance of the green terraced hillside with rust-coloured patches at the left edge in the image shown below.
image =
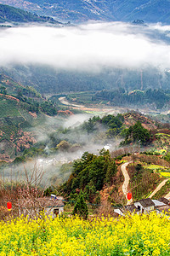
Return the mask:
[[[59,106],[31,86],[0,75],[0,160],[11,160],[37,142],[38,125],[58,113]]]

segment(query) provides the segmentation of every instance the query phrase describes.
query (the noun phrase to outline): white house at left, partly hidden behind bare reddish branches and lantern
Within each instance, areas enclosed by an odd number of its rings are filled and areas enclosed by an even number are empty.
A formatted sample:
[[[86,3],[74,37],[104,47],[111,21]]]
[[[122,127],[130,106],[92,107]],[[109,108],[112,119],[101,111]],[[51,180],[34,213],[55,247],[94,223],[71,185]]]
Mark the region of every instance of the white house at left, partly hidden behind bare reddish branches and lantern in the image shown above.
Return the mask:
[[[21,201],[19,215],[23,214],[33,218],[44,211],[47,216],[50,215],[52,218],[55,218],[58,214],[60,215],[64,212],[64,207],[63,197],[51,195],[51,197],[37,198],[33,201]]]

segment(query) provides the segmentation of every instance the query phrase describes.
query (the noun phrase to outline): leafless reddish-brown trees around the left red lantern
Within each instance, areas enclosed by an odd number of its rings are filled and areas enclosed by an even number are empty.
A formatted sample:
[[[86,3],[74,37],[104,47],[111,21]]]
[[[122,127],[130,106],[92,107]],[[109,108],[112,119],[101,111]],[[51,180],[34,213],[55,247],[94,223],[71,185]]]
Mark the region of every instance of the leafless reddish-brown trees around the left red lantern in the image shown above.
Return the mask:
[[[0,180],[0,218],[16,217],[22,213],[35,217],[37,208],[42,208],[42,201],[39,198],[43,195],[40,188],[44,172],[35,163],[32,171],[27,171],[24,167],[25,178],[23,180],[13,179],[11,170],[10,177],[5,180],[4,175]],[[7,202],[12,202],[12,211],[8,212]]]

